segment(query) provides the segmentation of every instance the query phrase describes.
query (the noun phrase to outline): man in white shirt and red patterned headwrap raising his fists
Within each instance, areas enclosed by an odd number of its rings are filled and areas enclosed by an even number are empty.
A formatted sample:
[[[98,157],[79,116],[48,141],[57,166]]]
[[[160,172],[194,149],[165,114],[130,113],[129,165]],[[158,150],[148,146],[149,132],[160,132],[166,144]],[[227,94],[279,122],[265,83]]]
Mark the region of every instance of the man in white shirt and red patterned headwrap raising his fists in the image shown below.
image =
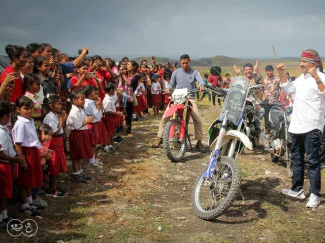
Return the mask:
[[[319,138],[325,125],[325,74],[319,71],[322,63],[314,50],[303,51],[300,67],[303,74],[290,83],[285,77],[284,64],[277,66],[281,89],[288,95],[296,95],[288,130],[292,138],[290,158],[293,186],[282,190],[282,193],[299,199],[306,198],[303,190],[306,153],[311,193],[306,208],[316,208],[321,185]]]

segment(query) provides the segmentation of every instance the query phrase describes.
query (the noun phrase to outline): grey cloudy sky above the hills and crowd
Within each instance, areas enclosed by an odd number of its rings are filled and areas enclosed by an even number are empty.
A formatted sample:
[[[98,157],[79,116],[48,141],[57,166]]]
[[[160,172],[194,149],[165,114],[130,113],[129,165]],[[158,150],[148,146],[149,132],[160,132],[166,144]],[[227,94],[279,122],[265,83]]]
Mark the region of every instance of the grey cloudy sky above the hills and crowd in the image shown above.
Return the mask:
[[[87,46],[90,55],[266,58],[274,46],[279,57],[325,56],[325,1],[311,2],[4,0],[0,54],[45,42],[69,55]]]

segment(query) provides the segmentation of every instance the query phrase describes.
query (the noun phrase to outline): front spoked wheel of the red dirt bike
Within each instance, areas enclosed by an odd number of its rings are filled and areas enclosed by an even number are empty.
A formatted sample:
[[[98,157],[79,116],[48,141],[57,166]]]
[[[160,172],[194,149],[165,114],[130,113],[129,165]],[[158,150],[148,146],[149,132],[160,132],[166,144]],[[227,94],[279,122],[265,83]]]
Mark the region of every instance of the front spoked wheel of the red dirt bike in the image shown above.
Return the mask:
[[[163,144],[166,156],[173,162],[180,161],[186,150],[186,136],[180,139],[181,122],[179,119],[168,121],[164,129]]]

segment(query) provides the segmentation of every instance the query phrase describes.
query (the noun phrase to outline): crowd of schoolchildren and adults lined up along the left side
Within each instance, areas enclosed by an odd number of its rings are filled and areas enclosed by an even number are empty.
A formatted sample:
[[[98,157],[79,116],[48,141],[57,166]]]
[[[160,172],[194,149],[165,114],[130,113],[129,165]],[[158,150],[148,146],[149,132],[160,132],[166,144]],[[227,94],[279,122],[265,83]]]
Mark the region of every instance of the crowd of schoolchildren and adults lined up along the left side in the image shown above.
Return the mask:
[[[114,153],[114,143],[131,136],[132,121],[166,108],[170,63],[149,67],[124,57],[118,65],[88,48],[69,60],[49,44],[6,47],[11,64],[0,76],[0,228],[9,221],[6,200],[18,190],[18,212],[40,216],[47,206],[39,195],[67,196],[57,176],[72,160],[73,179],[91,180],[82,160],[94,167],[96,147]],[[48,182],[48,185],[47,185]],[[11,223],[15,223],[12,221]]]

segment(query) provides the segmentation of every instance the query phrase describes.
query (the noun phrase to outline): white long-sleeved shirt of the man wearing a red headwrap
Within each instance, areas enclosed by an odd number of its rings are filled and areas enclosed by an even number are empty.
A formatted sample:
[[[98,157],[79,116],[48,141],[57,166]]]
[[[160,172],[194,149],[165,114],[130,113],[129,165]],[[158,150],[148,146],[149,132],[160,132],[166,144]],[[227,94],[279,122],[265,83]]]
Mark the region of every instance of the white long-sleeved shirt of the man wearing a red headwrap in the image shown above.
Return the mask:
[[[325,82],[325,74],[317,69],[320,80]],[[323,131],[325,125],[325,91],[320,92],[315,78],[309,73],[301,74],[294,82],[280,85],[284,93],[295,95],[295,102],[289,132],[302,134],[314,129]]]

